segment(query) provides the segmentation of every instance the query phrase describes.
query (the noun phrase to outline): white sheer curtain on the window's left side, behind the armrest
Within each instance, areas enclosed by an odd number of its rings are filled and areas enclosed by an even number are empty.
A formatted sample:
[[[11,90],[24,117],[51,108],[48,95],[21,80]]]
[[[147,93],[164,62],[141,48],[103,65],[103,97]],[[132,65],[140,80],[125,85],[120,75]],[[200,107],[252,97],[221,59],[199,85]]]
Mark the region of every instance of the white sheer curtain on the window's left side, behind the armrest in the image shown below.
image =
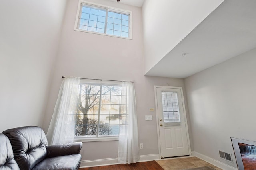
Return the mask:
[[[74,141],[75,111],[78,99],[80,78],[64,78],[46,134],[49,145]]]

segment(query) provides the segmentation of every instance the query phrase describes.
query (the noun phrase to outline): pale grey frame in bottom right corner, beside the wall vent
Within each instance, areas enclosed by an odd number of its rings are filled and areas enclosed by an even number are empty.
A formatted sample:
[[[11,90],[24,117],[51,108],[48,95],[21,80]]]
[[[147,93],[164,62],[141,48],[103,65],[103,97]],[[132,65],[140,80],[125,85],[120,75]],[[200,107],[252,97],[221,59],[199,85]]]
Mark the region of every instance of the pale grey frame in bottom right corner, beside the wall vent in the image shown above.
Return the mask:
[[[255,141],[248,141],[248,140],[244,140],[244,139],[238,139],[238,138],[234,138],[234,137],[231,137],[231,141],[232,141],[232,145],[233,145],[233,149],[234,149],[234,154],[235,154],[236,164],[237,164],[238,170],[244,170],[242,154],[240,152],[240,148],[239,148],[238,143],[244,143],[246,145],[256,146],[256,142]]]

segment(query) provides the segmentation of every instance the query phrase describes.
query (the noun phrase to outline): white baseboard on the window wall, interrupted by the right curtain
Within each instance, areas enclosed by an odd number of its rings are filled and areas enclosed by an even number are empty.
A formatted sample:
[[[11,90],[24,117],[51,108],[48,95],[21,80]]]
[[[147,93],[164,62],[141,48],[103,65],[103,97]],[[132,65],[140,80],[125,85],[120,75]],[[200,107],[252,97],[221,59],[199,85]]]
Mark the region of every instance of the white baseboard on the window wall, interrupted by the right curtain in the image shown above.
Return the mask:
[[[138,162],[146,162],[151,160],[159,160],[159,154],[141,155],[140,160],[138,160]],[[116,165],[116,164],[119,164],[117,162],[117,158],[82,160],[80,168],[88,168],[92,166]]]

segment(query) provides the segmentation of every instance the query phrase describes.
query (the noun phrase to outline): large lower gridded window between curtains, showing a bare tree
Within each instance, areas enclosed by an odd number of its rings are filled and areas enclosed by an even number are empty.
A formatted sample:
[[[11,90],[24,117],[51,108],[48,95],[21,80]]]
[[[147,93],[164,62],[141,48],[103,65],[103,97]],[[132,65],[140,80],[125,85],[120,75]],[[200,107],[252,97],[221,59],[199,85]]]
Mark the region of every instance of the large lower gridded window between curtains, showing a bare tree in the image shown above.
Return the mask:
[[[127,92],[121,84],[80,82],[76,137],[113,137],[128,123]]]

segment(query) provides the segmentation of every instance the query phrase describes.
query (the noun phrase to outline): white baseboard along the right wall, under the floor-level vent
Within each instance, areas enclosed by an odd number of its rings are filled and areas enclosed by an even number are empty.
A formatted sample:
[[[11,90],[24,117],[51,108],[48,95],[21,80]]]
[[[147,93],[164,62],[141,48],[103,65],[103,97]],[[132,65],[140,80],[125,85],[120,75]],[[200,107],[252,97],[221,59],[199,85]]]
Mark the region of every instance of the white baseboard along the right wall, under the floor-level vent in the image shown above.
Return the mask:
[[[193,152],[191,152],[191,154],[192,154],[192,156],[196,156],[196,157],[198,157],[210,164],[213,164],[214,166],[217,166],[223,170],[237,170],[237,168],[234,168],[233,166],[229,166],[228,164],[224,164],[223,162],[220,162],[218,160],[215,160],[213,158],[210,158],[210,157],[200,154],[198,152],[193,151]]]

